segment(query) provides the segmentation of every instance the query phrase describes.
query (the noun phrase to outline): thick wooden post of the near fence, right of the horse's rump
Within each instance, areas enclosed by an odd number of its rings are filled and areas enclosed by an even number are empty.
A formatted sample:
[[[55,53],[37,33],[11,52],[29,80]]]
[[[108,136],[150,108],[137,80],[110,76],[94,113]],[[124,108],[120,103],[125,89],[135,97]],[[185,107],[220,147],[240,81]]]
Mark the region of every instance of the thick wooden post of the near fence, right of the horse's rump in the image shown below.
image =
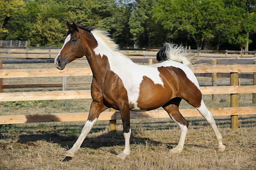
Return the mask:
[[[238,86],[238,73],[230,73],[230,85]],[[238,107],[238,94],[230,94],[231,107]],[[231,116],[231,129],[238,129],[238,115]]]

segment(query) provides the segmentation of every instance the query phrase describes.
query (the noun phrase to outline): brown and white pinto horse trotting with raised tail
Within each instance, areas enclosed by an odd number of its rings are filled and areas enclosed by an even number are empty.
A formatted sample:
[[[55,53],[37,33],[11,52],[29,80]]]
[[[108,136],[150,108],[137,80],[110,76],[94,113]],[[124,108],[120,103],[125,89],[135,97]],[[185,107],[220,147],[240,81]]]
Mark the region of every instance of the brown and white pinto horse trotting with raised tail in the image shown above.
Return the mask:
[[[171,55],[169,60],[153,65],[138,65],[118,52],[118,46],[107,32],[77,26],[74,22],[67,22],[67,27],[64,45],[54,61],[56,68],[63,70],[67,63],[86,56],[93,76],[88,119],[77,141],[64,156],[74,157],[100,113],[108,108],[119,110],[123,121],[125,148],[118,157],[125,159],[130,154],[130,110],[149,111],[159,107],[163,107],[181,128],[179,143],[169,152],[181,152],[188,127],[187,120],[179,112],[182,99],[195,107],[212,126],[218,140],[218,151],[225,150],[215,120],[202,101],[198,81],[191,69],[183,64],[188,60],[184,58],[181,47],[165,44],[158,55]],[[171,60],[175,58],[183,63]]]

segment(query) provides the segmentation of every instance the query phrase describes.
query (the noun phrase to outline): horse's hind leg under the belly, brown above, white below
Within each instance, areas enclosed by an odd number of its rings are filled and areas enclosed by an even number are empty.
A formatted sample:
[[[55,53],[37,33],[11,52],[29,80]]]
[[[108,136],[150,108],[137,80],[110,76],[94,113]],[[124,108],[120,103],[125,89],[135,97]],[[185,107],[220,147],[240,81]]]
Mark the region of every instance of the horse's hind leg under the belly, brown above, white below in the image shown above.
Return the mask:
[[[187,120],[180,114],[179,112],[179,103],[181,101],[181,98],[174,98],[169,103],[167,103],[165,106],[163,106],[164,110],[169,114],[169,116],[172,118],[174,122],[176,122],[181,130],[179,143],[176,147],[169,150],[169,153],[180,153],[183,150],[185,138],[187,135],[187,127],[188,122]]]

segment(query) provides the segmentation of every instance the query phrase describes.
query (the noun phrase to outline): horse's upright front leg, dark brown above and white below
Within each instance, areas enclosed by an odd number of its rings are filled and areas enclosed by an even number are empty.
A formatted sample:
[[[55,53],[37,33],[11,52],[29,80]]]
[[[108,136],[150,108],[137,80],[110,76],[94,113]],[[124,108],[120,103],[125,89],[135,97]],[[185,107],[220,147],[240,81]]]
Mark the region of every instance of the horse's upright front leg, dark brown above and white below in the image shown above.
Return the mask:
[[[121,159],[125,159],[127,155],[130,154],[130,137],[131,137],[131,129],[130,129],[130,110],[129,107],[125,107],[124,109],[120,109],[120,114],[123,122],[123,136],[125,138],[125,148],[122,153],[117,155]]]

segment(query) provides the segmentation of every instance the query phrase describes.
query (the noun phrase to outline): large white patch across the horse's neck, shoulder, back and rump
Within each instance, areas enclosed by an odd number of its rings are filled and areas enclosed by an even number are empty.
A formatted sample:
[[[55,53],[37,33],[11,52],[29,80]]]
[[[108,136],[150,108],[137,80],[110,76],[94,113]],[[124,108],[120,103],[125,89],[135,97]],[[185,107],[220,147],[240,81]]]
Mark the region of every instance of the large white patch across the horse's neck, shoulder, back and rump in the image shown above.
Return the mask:
[[[160,77],[158,67],[161,66],[174,66],[182,69],[187,77],[196,84],[199,88],[199,84],[193,72],[184,64],[176,61],[165,61],[153,65],[139,65],[133,63],[127,56],[120,54],[117,51],[117,45],[110,39],[106,38],[106,34],[102,34],[99,30],[93,30],[92,35],[97,40],[98,46],[94,49],[95,54],[105,55],[108,57],[110,63],[110,70],[117,74],[123,81],[123,85],[128,94],[129,104],[133,104],[135,111],[141,111],[138,107],[139,88],[143,80],[143,76],[151,79],[154,84],[160,84],[164,87],[164,82]]]

